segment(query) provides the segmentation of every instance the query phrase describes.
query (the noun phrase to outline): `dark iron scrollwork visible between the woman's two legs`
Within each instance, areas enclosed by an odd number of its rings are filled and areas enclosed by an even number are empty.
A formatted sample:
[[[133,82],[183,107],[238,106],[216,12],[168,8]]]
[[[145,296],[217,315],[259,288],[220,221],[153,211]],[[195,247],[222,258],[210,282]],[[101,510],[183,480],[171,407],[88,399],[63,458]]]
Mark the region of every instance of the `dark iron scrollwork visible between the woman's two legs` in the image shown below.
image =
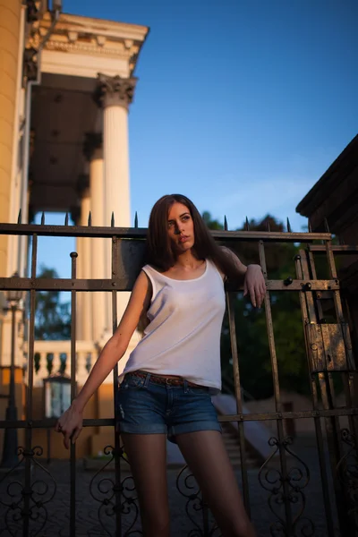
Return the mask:
[[[195,526],[188,533],[188,537],[203,537],[209,535],[209,537],[220,537],[220,533],[217,524],[213,522],[209,513],[209,508],[204,499],[202,499],[201,491],[198,483],[195,481],[194,476],[190,473],[187,465],[183,466],[182,470],[176,477],[176,488],[182,494],[184,498],[187,498],[185,504],[185,511],[188,518]],[[198,524],[198,513],[202,514],[203,527]],[[209,529],[209,525],[211,528]]]

